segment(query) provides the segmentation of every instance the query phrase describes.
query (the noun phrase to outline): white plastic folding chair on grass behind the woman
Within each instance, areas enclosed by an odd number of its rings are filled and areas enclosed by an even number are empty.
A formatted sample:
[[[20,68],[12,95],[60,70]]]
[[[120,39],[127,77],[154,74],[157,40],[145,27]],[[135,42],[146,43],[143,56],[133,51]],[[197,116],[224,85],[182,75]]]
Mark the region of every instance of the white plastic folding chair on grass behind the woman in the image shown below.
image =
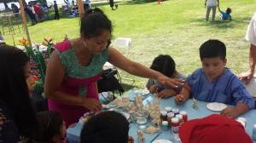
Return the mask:
[[[130,48],[131,48],[131,38],[129,38],[129,37],[119,37],[119,38],[116,38],[114,43],[113,43],[113,48],[120,49],[120,50],[121,49],[125,49],[125,54],[123,52],[120,52],[120,53],[123,53],[125,55],[125,57],[128,58],[129,57]],[[114,67],[112,64],[110,64],[108,61],[105,63],[104,67],[115,68],[116,69],[116,67]],[[125,73],[127,73],[127,72],[125,72]],[[121,77],[121,79],[125,79],[125,80],[131,81],[132,82],[131,85],[133,83],[135,83],[134,79],[128,78],[128,77],[124,77],[124,72],[122,72],[120,77]]]

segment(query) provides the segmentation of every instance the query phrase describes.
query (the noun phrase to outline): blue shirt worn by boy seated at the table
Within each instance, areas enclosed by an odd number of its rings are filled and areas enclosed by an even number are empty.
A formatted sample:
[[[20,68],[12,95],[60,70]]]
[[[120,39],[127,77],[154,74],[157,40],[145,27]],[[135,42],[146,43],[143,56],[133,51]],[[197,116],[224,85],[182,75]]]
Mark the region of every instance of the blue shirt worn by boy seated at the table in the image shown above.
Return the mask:
[[[236,103],[244,103],[251,109],[254,108],[253,97],[229,68],[213,82],[209,82],[202,68],[199,68],[188,76],[187,81],[191,87],[191,98],[233,106],[236,106]]]

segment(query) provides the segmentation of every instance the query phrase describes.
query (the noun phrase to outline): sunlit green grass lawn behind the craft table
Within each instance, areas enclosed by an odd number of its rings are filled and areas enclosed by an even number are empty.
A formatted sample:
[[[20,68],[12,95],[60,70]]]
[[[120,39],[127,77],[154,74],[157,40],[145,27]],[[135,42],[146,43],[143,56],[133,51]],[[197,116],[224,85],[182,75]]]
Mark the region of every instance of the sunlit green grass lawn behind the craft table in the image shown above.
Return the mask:
[[[92,7],[103,9],[113,21],[113,39],[131,37],[131,60],[150,66],[158,54],[170,54],[177,63],[177,71],[189,74],[201,66],[198,52],[201,43],[219,39],[227,46],[227,66],[239,74],[248,69],[250,43],[244,37],[256,11],[255,5],[255,0],[220,1],[220,9],[232,9],[233,20],[221,21],[217,13],[214,22],[205,21],[204,1],[166,0],[160,5],[157,2],[120,2],[116,10],[111,10],[108,4],[92,4]],[[79,18],[62,16],[61,20],[49,20],[36,26],[28,24],[28,30],[33,43],[42,43],[44,37],[53,37],[57,43],[65,34],[69,38],[79,37]],[[13,43],[11,35],[4,37],[7,43]],[[14,37],[17,44],[26,34],[17,33]],[[136,79],[134,86],[145,87],[147,79],[133,78]]]

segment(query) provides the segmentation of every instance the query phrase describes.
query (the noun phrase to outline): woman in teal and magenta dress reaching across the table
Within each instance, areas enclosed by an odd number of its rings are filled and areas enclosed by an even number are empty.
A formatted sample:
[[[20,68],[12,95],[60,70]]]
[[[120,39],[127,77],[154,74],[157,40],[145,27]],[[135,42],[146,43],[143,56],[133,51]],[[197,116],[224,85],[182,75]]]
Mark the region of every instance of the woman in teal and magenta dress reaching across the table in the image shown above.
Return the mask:
[[[60,112],[67,126],[79,122],[84,112],[102,110],[95,83],[106,61],[139,77],[154,78],[172,87],[181,84],[108,48],[111,37],[112,22],[101,9],[90,9],[81,19],[80,37],[56,44],[50,55],[44,94],[49,110]]]

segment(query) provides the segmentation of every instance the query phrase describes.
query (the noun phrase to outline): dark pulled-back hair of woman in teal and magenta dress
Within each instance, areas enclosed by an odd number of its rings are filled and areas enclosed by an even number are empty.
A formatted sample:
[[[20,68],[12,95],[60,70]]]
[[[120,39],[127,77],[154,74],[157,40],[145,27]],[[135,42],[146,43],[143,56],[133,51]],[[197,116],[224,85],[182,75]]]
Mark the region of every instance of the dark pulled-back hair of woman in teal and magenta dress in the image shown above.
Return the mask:
[[[88,10],[81,19],[80,34],[82,35],[82,33],[84,33],[84,36],[88,38],[98,37],[102,35],[104,30],[110,32],[110,39],[108,40],[109,46],[113,31],[112,22],[101,9],[96,8]]]

